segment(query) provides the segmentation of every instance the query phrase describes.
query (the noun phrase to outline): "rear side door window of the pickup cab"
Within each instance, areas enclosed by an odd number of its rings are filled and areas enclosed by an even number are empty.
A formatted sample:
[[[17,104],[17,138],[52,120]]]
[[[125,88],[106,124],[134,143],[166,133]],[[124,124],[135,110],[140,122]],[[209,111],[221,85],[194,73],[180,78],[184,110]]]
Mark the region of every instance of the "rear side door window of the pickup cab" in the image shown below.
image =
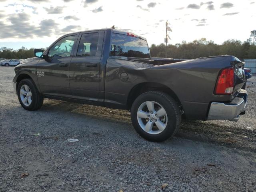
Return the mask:
[[[82,34],[76,56],[95,56],[98,49],[99,33]]]

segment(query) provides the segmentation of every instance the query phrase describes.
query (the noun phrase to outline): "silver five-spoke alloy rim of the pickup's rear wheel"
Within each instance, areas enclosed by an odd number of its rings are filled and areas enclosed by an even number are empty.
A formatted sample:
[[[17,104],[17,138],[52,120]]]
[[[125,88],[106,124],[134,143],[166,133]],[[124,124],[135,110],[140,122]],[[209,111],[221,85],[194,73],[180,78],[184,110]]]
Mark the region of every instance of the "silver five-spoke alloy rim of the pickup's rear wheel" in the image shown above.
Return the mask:
[[[153,135],[163,132],[168,123],[166,110],[155,101],[146,101],[140,105],[137,120],[142,130]]]

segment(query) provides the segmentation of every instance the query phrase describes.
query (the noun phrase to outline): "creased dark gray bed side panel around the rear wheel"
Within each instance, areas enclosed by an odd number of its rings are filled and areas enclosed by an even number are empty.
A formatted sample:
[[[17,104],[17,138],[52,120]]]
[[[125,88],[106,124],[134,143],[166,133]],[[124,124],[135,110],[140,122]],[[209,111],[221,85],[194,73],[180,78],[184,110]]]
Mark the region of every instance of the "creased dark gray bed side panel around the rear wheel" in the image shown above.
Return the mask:
[[[169,87],[180,99],[187,118],[206,119],[210,102],[229,102],[232,95],[214,95],[218,74],[232,66],[233,56],[201,58],[154,66],[109,58],[106,66],[106,103],[126,105],[130,90],[142,82],[156,82]],[[128,81],[120,80],[121,73]]]

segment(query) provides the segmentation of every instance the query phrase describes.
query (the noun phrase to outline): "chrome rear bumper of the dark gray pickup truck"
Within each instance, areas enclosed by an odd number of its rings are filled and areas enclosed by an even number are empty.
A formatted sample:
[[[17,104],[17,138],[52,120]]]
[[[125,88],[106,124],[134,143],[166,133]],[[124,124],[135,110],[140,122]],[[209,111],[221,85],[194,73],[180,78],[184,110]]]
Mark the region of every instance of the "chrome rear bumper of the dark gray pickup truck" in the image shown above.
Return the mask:
[[[239,115],[244,114],[247,103],[247,91],[240,90],[230,103],[212,102],[208,113],[208,120],[226,119],[238,121]]]

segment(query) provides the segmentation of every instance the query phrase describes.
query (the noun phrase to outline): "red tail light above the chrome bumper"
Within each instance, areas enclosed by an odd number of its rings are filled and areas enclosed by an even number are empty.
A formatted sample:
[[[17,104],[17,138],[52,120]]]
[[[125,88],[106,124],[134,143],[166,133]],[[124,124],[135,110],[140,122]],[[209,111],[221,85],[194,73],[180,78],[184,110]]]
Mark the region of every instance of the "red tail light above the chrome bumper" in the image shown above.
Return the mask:
[[[230,95],[234,88],[234,69],[232,67],[222,69],[218,77],[214,94]]]

